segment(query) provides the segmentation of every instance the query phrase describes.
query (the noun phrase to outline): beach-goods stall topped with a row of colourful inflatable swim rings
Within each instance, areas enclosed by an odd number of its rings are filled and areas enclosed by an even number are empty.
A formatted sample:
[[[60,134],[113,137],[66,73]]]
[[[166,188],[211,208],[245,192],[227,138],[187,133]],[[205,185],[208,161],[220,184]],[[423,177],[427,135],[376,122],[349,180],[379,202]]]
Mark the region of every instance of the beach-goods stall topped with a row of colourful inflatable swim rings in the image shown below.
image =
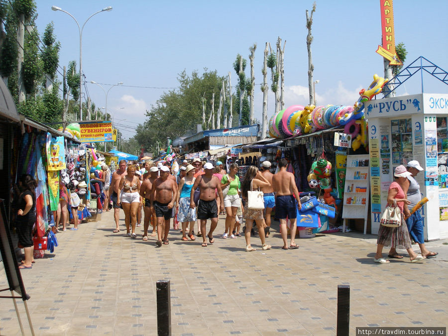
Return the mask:
[[[359,92],[353,106],[293,105],[270,118],[269,135],[286,140],[286,147],[280,147],[276,157],[289,159],[288,170],[295,174],[299,190],[319,186],[317,198],[339,206],[335,198],[340,199],[344,191],[346,149],[356,151],[368,145],[364,106],[386,83],[387,80],[375,74],[370,86]]]

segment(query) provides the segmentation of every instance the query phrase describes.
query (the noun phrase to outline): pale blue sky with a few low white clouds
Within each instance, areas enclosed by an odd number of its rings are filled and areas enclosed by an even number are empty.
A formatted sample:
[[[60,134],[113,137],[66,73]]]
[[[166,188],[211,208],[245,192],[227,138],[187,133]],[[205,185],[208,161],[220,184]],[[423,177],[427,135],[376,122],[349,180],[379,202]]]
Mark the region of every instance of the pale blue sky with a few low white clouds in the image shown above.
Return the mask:
[[[381,44],[380,0],[317,0],[313,16],[312,57],[317,105],[352,105],[373,75],[384,75],[383,59],[375,51]],[[135,134],[160,96],[178,87],[178,74],[204,68],[218,75],[231,72],[237,54],[247,60],[249,47],[257,44],[255,117],[261,120],[263,50],[273,48],[277,37],[286,41],[284,54],[285,107],[307,105],[308,54],[306,9],[313,0],[36,0],[36,25],[42,34],[51,21],[61,43],[59,65],[76,60],[79,70],[79,30],[76,22],[52,5],[72,14],[82,26],[83,73],[89,96],[105,107],[124,138]],[[395,42],[403,42],[405,66],[423,56],[448,71],[447,0],[395,0]],[[62,70],[60,68],[60,72]],[[62,76],[60,76],[62,77]],[[123,85],[111,88],[113,84]],[[268,79],[270,85],[270,79]],[[397,96],[421,93],[420,76],[397,89]],[[424,92],[448,93],[448,86],[424,75]],[[83,94],[85,89],[83,89]],[[216,101],[217,109],[218,102]],[[274,114],[274,95],[268,96],[268,118]]]

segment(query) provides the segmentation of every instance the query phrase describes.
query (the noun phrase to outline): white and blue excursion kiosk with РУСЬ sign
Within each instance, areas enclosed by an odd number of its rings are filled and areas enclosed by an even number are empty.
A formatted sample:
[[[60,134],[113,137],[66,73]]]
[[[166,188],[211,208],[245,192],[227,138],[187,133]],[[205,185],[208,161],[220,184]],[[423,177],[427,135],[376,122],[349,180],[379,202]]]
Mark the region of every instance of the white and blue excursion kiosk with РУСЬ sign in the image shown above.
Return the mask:
[[[448,94],[417,94],[367,105],[370,143],[372,233],[377,234],[398,165],[417,160],[425,240],[448,238]]]

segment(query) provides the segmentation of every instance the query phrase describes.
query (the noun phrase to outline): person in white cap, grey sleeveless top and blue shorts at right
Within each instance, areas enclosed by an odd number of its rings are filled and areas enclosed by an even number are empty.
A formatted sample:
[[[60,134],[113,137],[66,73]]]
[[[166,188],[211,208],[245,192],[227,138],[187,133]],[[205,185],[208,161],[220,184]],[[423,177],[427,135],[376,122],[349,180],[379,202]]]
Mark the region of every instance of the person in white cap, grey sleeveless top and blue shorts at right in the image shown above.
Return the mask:
[[[421,200],[422,194],[420,194],[420,185],[415,180],[417,174],[423,171],[423,167],[420,166],[419,161],[412,160],[409,161],[406,167],[406,170],[410,172],[412,175],[407,176],[407,179],[403,182],[401,186],[403,188],[403,192],[406,194],[406,197],[411,204],[404,204],[403,215],[406,220],[406,226],[408,226],[409,234],[411,238],[419,244],[420,251],[422,255],[427,258],[434,258],[439,253],[429,251],[425,246],[425,237],[423,233],[423,218],[420,215],[420,210],[417,210],[411,215],[410,210],[414,208]],[[389,258],[402,259],[403,256],[399,255],[394,247],[392,247],[388,254]]]

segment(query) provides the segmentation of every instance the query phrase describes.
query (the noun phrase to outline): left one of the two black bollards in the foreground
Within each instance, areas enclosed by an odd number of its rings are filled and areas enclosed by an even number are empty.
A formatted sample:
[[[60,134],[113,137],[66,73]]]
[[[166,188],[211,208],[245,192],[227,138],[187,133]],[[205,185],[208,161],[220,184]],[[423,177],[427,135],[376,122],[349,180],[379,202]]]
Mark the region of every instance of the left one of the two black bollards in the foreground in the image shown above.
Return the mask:
[[[159,280],[157,291],[157,335],[171,335],[171,294],[170,281]]]

